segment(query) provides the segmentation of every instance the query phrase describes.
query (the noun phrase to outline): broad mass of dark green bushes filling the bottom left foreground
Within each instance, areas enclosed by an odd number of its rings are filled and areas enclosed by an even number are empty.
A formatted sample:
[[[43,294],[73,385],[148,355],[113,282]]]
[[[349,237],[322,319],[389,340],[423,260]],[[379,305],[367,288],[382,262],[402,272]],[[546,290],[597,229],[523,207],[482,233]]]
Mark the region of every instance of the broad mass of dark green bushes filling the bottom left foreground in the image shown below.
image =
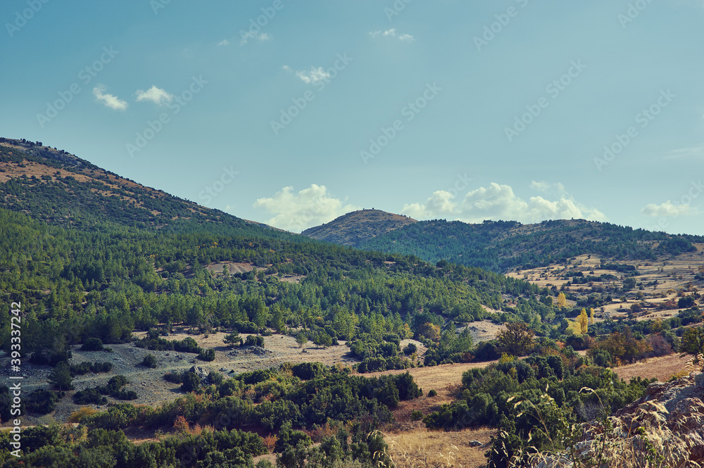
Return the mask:
[[[115,467],[253,468],[252,456],[272,451],[285,468],[389,466],[388,448],[374,430],[391,420],[389,408],[422,392],[410,374],[365,379],[319,363],[215,380],[161,407],[120,403],[103,412],[82,412],[77,428],[25,429],[19,460],[22,466],[61,460],[91,468],[110,460]],[[176,432],[134,445],[123,431],[132,426]],[[256,431],[271,435],[265,439]],[[9,437],[0,434],[0,445]],[[17,460],[4,450],[0,466],[20,466]],[[257,468],[272,465],[260,462]]]

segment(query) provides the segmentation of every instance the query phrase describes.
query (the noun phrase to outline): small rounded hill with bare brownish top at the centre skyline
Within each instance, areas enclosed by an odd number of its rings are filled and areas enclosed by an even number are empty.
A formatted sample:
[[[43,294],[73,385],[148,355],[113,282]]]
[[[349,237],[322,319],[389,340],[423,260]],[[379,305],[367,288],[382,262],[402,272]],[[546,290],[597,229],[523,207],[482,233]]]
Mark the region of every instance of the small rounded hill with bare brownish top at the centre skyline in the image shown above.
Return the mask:
[[[409,224],[413,218],[394,215],[382,210],[360,210],[342,215],[335,220],[301,232],[303,236],[343,246],[358,247],[365,242]]]

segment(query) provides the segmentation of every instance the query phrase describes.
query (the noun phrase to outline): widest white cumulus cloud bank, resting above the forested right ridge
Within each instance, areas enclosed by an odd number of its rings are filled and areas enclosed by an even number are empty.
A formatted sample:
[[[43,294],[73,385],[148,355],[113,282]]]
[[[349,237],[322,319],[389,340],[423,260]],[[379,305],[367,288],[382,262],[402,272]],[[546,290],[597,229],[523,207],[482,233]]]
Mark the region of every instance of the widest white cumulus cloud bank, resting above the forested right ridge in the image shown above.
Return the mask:
[[[551,189],[562,184],[534,182],[534,189]],[[564,189],[564,187],[562,187]],[[603,221],[606,216],[601,211],[588,208],[566,192],[557,199],[533,196],[527,201],[517,196],[508,185],[492,182],[488,187],[467,192],[461,200],[455,201],[450,191],[436,191],[425,203],[411,203],[403,206],[401,213],[416,219],[449,218],[464,222],[484,220],[517,220],[520,222],[541,222],[568,218],[584,218]]]

